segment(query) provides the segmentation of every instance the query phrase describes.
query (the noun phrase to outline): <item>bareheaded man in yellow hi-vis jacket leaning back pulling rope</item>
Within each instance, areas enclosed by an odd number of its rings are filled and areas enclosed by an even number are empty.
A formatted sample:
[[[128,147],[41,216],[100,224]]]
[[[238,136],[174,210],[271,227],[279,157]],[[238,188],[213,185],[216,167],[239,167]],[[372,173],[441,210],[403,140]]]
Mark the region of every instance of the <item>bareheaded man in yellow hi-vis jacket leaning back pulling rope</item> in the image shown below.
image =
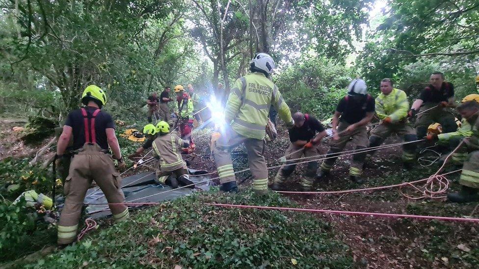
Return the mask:
[[[418,140],[416,130],[407,121],[409,103],[406,93],[393,88],[393,81],[390,78],[381,80],[381,94],[375,99],[376,114],[381,120],[371,131],[369,147],[378,147],[391,134],[402,135],[404,141],[411,142]],[[369,161],[374,151],[367,154]],[[410,168],[416,156],[416,143],[405,144],[402,147],[402,160],[406,168]]]

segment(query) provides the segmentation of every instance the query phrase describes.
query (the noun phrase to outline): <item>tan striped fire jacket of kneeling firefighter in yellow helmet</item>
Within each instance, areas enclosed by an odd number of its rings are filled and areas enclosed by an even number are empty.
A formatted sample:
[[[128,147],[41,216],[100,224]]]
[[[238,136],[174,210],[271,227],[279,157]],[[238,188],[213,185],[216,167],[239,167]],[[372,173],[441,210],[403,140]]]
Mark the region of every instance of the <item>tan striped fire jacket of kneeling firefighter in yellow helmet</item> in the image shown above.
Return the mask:
[[[184,165],[180,148],[186,141],[175,134],[159,135],[153,141],[155,153],[160,157],[160,169],[162,172],[180,169]]]

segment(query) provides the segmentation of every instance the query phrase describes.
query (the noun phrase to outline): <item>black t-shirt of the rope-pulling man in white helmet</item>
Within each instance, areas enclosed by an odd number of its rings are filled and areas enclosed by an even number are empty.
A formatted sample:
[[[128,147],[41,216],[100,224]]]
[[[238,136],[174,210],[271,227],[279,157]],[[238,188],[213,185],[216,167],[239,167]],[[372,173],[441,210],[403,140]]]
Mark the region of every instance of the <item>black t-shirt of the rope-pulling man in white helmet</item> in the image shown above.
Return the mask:
[[[336,107],[336,111],[342,113],[340,121],[349,124],[360,122],[366,117],[367,112],[374,112],[374,110],[374,99],[370,95],[360,100],[350,96],[343,97]]]

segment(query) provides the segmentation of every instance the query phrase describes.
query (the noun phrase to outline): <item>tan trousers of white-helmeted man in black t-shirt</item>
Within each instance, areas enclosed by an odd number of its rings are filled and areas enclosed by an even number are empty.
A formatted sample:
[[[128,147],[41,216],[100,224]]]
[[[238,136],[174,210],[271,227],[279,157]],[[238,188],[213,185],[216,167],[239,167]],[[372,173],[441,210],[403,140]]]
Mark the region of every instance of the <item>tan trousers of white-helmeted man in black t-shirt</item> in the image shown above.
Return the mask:
[[[338,126],[338,132],[342,132],[346,130],[349,123],[340,122]],[[321,164],[322,171],[330,171],[338,158],[336,153],[343,151],[344,147],[346,147],[347,142],[351,140],[352,144],[354,145],[354,149],[358,151],[362,151],[366,149],[369,145],[368,139],[368,132],[366,130],[366,126],[357,127],[354,131],[350,133],[342,133],[339,135],[339,140],[334,140],[331,138],[329,140],[329,150],[326,155],[326,160],[324,160]],[[349,167],[349,175],[353,176],[360,176],[363,173],[363,164],[364,159],[366,158],[367,152],[361,152],[353,154],[351,165]]]

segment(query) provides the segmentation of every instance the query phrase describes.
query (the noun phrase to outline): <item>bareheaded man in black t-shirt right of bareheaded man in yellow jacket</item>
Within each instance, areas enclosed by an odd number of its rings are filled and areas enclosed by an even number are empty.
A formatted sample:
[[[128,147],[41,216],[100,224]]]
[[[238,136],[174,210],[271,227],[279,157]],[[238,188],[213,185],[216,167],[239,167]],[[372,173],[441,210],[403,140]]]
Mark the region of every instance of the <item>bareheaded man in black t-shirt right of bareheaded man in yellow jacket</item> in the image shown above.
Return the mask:
[[[431,84],[423,90],[408,112],[408,116],[413,118],[416,114],[421,114],[416,120],[416,133],[419,138],[426,136],[427,126],[434,122],[440,123],[446,133],[457,130],[455,117],[447,109],[454,106],[454,85],[444,81],[444,74],[441,72],[432,73],[429,80]]]

